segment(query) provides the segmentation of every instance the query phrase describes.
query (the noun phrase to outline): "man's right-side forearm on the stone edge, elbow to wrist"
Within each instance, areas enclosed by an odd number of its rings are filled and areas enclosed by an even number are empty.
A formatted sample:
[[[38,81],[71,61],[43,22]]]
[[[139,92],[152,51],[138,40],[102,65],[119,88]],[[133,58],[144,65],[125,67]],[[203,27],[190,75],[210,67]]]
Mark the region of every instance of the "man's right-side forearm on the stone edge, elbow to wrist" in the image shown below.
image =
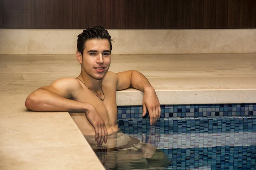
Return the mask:
[[[131,71],[131,87],[143,92],[145,89],[154,90],[148,79],[138,71]]]

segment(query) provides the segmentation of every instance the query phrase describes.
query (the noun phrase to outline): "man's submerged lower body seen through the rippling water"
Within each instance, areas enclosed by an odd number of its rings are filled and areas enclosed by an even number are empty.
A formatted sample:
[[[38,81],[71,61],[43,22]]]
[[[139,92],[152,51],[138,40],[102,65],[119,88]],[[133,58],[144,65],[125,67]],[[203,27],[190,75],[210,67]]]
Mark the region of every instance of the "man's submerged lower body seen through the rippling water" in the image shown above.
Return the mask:
[[[168,157],[156,147],[118,130],[108,135],[107,144],[96,146],[95,136],[84,136],[107,170],[163,170]]]

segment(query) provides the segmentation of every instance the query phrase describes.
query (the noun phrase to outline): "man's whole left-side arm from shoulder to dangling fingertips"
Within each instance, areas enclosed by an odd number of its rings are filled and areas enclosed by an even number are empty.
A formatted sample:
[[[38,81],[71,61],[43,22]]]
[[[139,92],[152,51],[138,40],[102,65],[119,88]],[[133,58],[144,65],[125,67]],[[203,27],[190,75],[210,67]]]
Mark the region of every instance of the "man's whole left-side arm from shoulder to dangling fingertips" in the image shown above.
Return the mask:
[[[81,88],[80,83],[73,78],[58,79],[47,87],[32,92],[25,102],[31,111],[67,111],[85,113],[90,124],[95,129],[95,140],[98,145],[107,143],[108,131],[105,122],[93,105],[70,99],[73,89]]]

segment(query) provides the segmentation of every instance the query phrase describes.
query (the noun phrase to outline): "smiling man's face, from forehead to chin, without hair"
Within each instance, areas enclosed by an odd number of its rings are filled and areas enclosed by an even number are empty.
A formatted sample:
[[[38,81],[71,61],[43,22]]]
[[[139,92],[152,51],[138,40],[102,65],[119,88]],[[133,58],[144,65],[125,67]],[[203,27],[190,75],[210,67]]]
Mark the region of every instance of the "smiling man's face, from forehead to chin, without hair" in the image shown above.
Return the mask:
[[[102,79],[111,63],[110,44],[107,39],[92,39],[85,43],[82,69],[94,79]]]

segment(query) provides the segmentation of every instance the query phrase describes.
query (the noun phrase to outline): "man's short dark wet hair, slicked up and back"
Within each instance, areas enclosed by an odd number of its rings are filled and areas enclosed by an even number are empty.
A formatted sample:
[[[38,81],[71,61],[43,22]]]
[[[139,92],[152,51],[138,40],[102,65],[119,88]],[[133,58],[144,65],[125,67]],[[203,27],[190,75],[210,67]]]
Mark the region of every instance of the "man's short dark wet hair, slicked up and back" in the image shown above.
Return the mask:
[[[83,56],[84,46],[87,40],[92,39],[107,39],[110,45],[110,53],[112,51],[112,39],[102,26],[94,26],[92,28],[84,29],[84,31],[77,36],[77,51]]]

